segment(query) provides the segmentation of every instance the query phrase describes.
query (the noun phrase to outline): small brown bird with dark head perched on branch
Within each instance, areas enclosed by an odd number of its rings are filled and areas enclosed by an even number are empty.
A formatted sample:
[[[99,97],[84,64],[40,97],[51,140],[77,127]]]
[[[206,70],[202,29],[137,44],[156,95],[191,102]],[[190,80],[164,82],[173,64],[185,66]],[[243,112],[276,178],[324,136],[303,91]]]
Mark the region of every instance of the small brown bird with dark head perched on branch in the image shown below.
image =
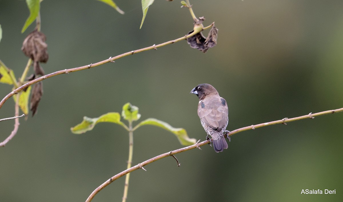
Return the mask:
[[[207,133],[206,139],[211,135],[216,152],[227,149],[224,133],[228,133],[225,129],[229,118],[225,99],[220,97],[217,90],[207,83],[197,85],[190,93],[199,97],[198,116]]]

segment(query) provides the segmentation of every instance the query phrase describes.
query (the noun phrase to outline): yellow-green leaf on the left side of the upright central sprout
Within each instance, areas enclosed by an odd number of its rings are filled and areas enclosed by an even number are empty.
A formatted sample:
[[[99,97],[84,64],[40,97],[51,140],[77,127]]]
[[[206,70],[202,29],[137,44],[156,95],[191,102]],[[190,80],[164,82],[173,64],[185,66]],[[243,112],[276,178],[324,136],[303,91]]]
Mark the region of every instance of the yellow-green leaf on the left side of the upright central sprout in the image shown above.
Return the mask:
[[[109,112],[98,118],[83,117],[83,121],[72,127],[70,130],[74,134],[85,133],[93,130],[94,126],[100,122],[116,123],[127,129],[127,126],[120,121],[120,114],[118,112]]]

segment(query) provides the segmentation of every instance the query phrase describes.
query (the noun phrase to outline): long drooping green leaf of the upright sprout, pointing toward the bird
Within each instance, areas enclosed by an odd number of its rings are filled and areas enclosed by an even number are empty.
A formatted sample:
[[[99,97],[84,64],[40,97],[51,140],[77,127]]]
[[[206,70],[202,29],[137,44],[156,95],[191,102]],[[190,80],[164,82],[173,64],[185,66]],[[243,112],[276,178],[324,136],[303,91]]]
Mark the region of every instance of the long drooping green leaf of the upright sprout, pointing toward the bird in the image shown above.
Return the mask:
[[[178,138],[178,140],[180,141],[181,145],[193,145],[197,143],[196,139],[188,137],[185,129],[172,127],[171,125],[169,125],[168,123],[164,121],[160,121],[154,118],[146,119],[140,122],[138,125],[136,125],[134,127],[134,130],[142,125],[154,125],[154,126],[161,127],[169,132],[174,133],[176,137]]]

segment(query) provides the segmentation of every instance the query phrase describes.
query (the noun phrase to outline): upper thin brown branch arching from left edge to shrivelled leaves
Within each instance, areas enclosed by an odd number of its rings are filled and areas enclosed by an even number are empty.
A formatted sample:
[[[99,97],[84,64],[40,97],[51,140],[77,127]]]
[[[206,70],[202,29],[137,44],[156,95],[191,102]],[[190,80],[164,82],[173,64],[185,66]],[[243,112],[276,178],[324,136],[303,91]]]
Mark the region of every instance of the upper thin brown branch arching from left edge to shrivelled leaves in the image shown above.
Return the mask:
[[[212,26],[213,26],[213,23],[211,25],[207,26],[207,27],[204,27],[202,30],[211,28]],[[37,83],[39,81],[43,81],[43,80],[48,79],[50,77],[54,77],[54,76],[61,75],[61,74],[64,74],[64,73],[68,74],[68,73],[74,72],[74,71],[80,71],[80,70],[84,70],[84,69],[90,69],[90,68],[93,68],[93,67],[97,67],[97,66],[103,65],[105,63],[114,62],[114,60],[116,60],[116,59],[119,59],[119,58],[122,58],[122,57],[125,57],[125,56],[128,56],[128,55],[133,55],[133,54],[136,54],[136,53],[140,53],[140,52],[143,52],[143,51],[148,51],[148,50],[153,50],[153,49],[156,50],[159,47],[162,47],[162,46],[165,46],[165,45],[168,45],[168,44],[172,44],[172,43],[175,43],[175,42],[179,42],[179,41],[185,40],[185,39],[187,39],[189,37],[192,37],[192,36],[196,35],[197,33],[199,33],[202,30],[198,30],[198,31],[194,30],[192,33],[190,33],[189,35],[186,35],[184,37],[180,37],[178,39],[167,41],[167,42],[160,43],[160,44],[157,44],[157,45],[154,44],[152,46],[148,46],[146,48],[138,49],[138,50],[135,50],[135,51],[129,51],[129,52],[117,55],[115,57],[110,57],[108,59],[105,59],[103,61],[100,61],[100,62],[97,62],[97,63],[94,63],[94,64],[85,65],[85,66],[81,66],[81,67],[75,67],[75,68],[71,68],[71,69],[63,69],[63,70],[59,70],[59,71],[56,71],[56,72],[49,73],[48,75],[44,75],[42,77],[39,77],[39,78],[34,79],[32,81],[29,81],[29,82],[25,83],[24,85],[22,85],[22,86],[16,88],[15,90],[13,90],[11,93],[6,95],[1,100],[0,108],[6,102],[6,100],[8,100],[10,97],[12,97],[13,95],[15,95],[18,92],[22,91],[26,87],[28,87],[30,85],[33,85],[33,84],[35,84],[35,83]]]

